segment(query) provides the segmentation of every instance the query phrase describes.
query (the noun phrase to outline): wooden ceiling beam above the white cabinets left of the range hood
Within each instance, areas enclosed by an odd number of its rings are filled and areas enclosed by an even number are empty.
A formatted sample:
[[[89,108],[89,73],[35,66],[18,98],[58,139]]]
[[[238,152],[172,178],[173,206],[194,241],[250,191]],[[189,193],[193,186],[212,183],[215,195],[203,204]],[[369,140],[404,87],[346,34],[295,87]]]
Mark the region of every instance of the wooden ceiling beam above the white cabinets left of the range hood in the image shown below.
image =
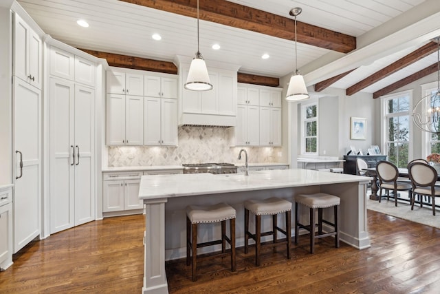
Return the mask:
[[[172,62],[144,59],[141,57],[100,52],[82,48],[78,49],[98,58],[106,59],[110,66],[131,68],[133,70],[148,70],[150,72],[164,72],[166,74],[177,74],[177,66]]]

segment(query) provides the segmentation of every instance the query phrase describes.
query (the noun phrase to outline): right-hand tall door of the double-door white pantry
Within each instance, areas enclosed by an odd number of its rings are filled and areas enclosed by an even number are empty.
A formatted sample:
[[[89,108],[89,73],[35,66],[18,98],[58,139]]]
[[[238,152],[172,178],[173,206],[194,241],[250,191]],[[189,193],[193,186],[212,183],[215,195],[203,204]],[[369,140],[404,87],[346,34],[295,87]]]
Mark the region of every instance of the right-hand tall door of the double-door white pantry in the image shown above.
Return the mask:
[[[95,220],[94,105],[95,91],[82,85],[75,85],[75,226]]]

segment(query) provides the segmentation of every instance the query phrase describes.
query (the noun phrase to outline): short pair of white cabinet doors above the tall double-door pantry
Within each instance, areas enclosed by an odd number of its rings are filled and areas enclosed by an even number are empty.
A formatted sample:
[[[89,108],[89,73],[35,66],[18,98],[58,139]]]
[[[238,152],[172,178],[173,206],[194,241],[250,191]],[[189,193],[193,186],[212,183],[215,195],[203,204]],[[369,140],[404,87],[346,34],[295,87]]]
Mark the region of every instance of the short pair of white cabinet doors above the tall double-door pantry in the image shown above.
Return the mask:
[[[95,87],[95,63],[53,45],[50,46],[49,73],[51,76]]]

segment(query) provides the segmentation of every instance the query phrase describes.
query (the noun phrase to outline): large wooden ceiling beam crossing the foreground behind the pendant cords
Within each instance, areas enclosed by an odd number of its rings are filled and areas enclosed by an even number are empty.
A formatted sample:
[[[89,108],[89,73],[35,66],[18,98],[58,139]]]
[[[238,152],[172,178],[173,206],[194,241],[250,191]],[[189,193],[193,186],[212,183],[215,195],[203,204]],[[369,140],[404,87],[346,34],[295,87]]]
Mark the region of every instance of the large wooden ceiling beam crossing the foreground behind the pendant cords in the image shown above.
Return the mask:
[[[197,0],[120,0],[136,5],[197,18]],[[289,12],[286,11],[286,14]],[[281,17],[225,0],[200,0],[199,19],[233,28],[259,32],[281,39],[295,39],[294,18]],[[356,38],[316,25],[297,21],[297,40],[319,48],[348,53],[356,48]]]

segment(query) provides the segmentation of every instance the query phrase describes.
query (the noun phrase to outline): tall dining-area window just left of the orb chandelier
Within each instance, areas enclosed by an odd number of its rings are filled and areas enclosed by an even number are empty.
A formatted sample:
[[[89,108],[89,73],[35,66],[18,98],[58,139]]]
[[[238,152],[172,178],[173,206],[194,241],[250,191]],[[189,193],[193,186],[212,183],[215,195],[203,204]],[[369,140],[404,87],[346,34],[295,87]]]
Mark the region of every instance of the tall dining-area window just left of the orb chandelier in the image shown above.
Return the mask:
[[[397,167],[408,165],[410,149],[410,92],[384,98],[385,148],[388,160]]]

